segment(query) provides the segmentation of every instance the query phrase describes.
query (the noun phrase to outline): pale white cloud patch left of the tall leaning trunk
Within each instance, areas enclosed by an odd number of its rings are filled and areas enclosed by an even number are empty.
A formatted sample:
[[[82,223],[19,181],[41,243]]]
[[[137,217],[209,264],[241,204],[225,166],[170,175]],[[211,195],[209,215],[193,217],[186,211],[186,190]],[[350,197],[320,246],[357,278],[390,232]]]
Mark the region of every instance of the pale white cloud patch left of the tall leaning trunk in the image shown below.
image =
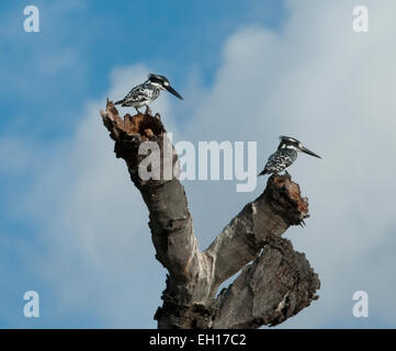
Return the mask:
[[[114,70],[109,97],[122,98],[146,75],[142,66]],[[88,309],[100,326],[152,327],[165,274],[154,259],[147,210],[99,115],[104,103],[87,104],[76,136],[53,155],[29,196],[49,251],[38,264],[60,310]],[[157,110],[167,115],[166,97],[152,105]]]

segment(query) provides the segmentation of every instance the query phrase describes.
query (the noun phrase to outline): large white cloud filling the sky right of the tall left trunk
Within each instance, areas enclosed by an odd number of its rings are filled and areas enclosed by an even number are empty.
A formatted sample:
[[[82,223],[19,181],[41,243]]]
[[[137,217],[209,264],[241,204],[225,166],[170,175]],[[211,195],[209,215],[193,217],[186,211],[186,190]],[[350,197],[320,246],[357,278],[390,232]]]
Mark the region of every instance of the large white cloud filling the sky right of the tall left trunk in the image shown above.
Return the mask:
[[[324,157],[302,155],[291,168],[309,197],[313,217],[305,229],[286,234],[320,273],[321,298],[284,326],[321,327],[338,320],[359,327],[351,318],[351,296],[362,285],[372,293],[373,318],[392,324],[387,317],[396,314],[385,297],[396,288],[389,279],[396,263],[396,27],[391,14],[396,5],[365,3],[372,19],[367,34],[352,31],[353,1],[291,1],[282,33],[256,26],[233,35],[210,98],[186,131],[210,139],[258,140],[262,162],[284,134]],[[216,234],[211,226],[218,218],[210,225],[204,220],[213,208],[220,208],[223,225],[228,208],[237,212],[242,195],[227,191],[224,208],[224,186],[188,186],[204,241]],[[211,206],[205,206],[208,196]],[[389,275],[380,279],[383,260],[392,264],[386,265]]]

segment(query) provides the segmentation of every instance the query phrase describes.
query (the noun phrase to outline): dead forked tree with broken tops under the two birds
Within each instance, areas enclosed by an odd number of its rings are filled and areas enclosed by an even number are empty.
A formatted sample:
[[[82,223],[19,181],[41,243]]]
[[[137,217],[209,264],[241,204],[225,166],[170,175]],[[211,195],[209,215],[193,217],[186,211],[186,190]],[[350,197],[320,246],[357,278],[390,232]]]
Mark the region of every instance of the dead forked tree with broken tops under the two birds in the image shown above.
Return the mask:
[[[148,207],[156,258],[169,272],[163,305],[155,315],[158,328],[275,326],[318,298],[318,275],[305,254],[281,238],[290,226],[308,217],[307,199],[288,174],[270,177],[263,193],[201,252],[179,180],[166,180],[161,173],[160,180],[144,181],[138,174],[146,157],[138,155],[143,141],[156,141],[163,151],[166,129],[159,114],[146,111],[121,118],[108,101],[101,116],[115,141],[116,157],[125,160]],[[171,159],[178,168],[176,152]],[[219,285],[238,271],[234,283],[216,296]]]

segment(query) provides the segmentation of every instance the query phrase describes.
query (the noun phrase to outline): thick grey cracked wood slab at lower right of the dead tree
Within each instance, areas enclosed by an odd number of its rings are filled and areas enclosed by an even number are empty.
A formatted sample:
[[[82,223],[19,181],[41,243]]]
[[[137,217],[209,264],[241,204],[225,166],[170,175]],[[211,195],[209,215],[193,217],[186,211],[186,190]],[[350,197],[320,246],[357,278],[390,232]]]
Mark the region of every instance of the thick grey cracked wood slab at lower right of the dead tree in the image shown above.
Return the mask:
[[[317,274],[288,240],[271,237],[262,253],[217,297],[215,328],[275,326],[309,306]]]

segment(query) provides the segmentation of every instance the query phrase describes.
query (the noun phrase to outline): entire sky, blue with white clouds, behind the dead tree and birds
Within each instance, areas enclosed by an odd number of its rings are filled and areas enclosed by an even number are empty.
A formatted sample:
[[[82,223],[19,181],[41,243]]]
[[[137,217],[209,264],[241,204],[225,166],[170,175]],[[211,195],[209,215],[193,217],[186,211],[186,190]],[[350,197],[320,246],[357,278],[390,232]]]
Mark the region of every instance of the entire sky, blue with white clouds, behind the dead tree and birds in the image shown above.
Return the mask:
[[[395,5],[363,2],[365,36],[351,31],[353,1],[35,1],[41,33],[23,31],[27,3],[2,1],[0,327],[155,327],[166,272],[98,114],[148,71],[185,99],[155,104],[176,139],[257,140],[261,162],[291,134],[324,155],[315,173],[303,157],[291,171],[312,218],[286,234],[320,274],[320,298],[283,326],[395,327],[385,301],[396,288],[396,223],[385,194],[396,195],[386,186],[396,174],[382,156],[396,155]],[[354,181],[341,192],[346,170]],[[205,248],[262,183],[242,194],[225,181],[184,186]],[[117,230],[110,210],[126,219]],[[39,293],[41,318],[23,317],[27,290]],[[357,290],[369,292],[370,318],[351,315]]]

